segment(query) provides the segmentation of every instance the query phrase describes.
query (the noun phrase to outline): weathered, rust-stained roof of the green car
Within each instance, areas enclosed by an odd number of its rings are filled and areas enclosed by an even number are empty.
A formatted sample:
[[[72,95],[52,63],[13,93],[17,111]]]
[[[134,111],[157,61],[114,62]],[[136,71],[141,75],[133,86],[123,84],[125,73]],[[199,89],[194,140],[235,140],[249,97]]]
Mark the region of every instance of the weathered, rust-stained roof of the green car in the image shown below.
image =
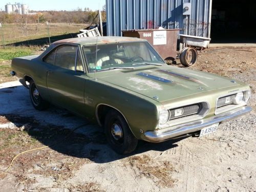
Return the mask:
[[[125,42],[125,41],[146,41],[145,39],[134,38],[134,37],[116,37],[116,36],[103,36],[103,37],[77,37],[62,39],[53,42],[53,44],[63,44],[72,43],[79,45],[94,45],[94,44],[108,44],[115,42]]]

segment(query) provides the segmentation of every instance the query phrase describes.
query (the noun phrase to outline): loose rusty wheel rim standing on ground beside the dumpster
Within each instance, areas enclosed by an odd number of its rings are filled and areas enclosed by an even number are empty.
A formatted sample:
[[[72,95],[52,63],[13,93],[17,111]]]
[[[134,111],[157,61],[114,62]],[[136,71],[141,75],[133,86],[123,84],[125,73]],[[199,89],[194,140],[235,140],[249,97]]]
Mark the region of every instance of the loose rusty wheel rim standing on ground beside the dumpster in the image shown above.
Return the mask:
[[[188,58],[189,52],[191,52],[191,59]],[[185,47],[180,54],[180,62],[183,66],[185,67],[190,67],[195,65],[195,63],[197,62],[197,50],[194,48],[188,48]]]

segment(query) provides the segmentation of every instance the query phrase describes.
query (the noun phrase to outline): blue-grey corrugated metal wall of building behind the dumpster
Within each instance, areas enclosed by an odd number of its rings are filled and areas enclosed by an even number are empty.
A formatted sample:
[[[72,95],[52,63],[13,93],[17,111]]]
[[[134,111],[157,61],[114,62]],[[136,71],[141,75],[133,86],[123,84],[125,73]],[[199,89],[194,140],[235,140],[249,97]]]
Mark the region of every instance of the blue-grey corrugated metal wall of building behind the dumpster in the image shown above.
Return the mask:
[[[212,0],[106,0],[108,36],[122,30],[181,28],[180,33],[209,37]],[[191,15],[183,15],[191,2]]]

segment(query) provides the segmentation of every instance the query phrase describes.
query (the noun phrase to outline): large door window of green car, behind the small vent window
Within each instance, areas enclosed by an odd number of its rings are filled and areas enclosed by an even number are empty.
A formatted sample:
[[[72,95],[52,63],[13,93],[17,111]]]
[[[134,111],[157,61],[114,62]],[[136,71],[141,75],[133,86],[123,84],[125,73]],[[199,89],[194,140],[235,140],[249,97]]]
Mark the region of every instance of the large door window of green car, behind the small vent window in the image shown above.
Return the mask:
[[[55,56],[55,66],[75,71],[76,62],[75,46],[61,46],[57,48]]]

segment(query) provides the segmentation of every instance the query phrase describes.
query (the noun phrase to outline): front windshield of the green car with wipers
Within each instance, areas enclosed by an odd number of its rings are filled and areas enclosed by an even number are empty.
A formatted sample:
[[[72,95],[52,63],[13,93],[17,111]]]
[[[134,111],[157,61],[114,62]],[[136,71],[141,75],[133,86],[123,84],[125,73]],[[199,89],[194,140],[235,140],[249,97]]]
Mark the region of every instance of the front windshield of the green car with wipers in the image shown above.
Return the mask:
[[[96,59],[97,52],[97,59]],[[118,42],[83,46],[89,72],[134,69],[140,66],[161,66],[165,62],[148,42]],[[95,65],[96,62],[96,65]]]

